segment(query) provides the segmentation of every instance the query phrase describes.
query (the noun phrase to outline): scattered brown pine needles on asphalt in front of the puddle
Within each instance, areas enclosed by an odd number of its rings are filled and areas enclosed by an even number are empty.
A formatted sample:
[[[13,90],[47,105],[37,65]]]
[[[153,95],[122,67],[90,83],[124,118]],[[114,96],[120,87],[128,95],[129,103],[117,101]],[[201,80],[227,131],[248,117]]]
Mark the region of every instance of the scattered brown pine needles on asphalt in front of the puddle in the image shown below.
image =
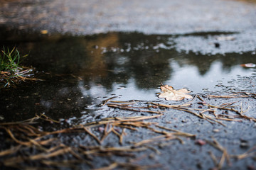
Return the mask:
[[[1,134],[6,136],[5,142],[11,145],[1,150],[1,166],[23,169],[35,168],[39,164],[43,167],[78,168],[81,164],[90,169],[154,169],[161,167],[161,164],[140,164],[138,157],[140,153],[161,154],[161,149],[171,145],[170,141],[176,140],[181,145],[186,145],[184,139],[195,140],[195,145],[203,147],[212,146],[208,156],[213,160],[215,169],[222,169],[224,164],[231,166],[233,160],[239,161],[247,157],[255,157],[256,147],[251,147],[242,154],[229,154],[215,138],[211,140],[197,139],[196,134],[182,132],[167,126],[159,125],[159,120],[169,114],[170,109],[191,113],[197,118],[207,120],[211,124],[218,123],[225,127],[225,122],[241,120],[252,120],[256,118],[245,115],[249,107],[244,110],[242,103],[237,102],[221,103],[213,106],[203,98],[255,98],[255,94],[242,93],[230,96],[194,96],[191,101],[181,104],[168,105],[151,101],[112,101],[109,98],[102,102],[102,106],[128,111],[132,116],[104,118],[99,121],[86,124],[73,125],[70,128],[60,130],[44,131],[38,129],[38,124],[46,122],[58,125],[60,121],[48,118],[47,115],[36,115],[34,118],[14,123],[1,123]],[[196,108],[193,106],[196,103]],[[236,104],[236,105],[235,105]],[[191,107],[193,106],[193,107]],[[225,111],[228,111],[226,113]],[[148,113],[149,115],[137,115],[137,113]],[[224,114],[223,114],[224,113]],[[146,130],[146,132],[145,132]],[[139,137],[133,142],[129,141],[129,135],[146,133],[146,139]],[[60,136],[71,135],[86,138],[85,143],[70,144],[60,140]],[[7,137],[8,136],[8,137]],[[114,137],[115,136],[115,137]],[[118,138],[116,143],[111,145],[106,141],[111,138]],[[78,142],[80,143],[80,142]],[[218,149],[222,156],[216,157],[213,149]],[[93,160],[97,157],[127,157],[127,162],[110,161],[107,166],[95,166]],[[64,159],[63,159],[64,158]]]

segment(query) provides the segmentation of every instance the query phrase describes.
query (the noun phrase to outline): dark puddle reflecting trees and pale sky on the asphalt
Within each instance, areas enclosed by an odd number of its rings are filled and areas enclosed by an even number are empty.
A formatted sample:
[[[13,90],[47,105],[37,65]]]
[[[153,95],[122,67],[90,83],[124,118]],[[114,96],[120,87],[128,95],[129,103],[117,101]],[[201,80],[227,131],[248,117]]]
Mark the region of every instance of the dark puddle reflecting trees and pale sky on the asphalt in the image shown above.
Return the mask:
[[[239,36],[210,33],[223,35]],[[181,39],[191,36],[194,35],[2,34],[1,45],[16,45],[22,54],[30,52],[23,63],[36,67],[46,81],[1,91],[1,111],[6,113],[6,121],[13,120],[10,113],[22,120],[34,113],[47,113],[70,123],[78,118],[80,122],[90,121],[108,114],[107,108],[98,107],[107,98],[160,100],[156,93],[161,83],[174,89],[188,88],[193,94],[228,90],[232,79],[253,73],[253,69],[240,67],[243,63],[256,63],[251,49],[241,50],[241,54],[231,52],[231,47],[228,53],[218,52],[214,44],[195,41],[197,44],[193,45],[191,40],[191,46],[184,49]],[[205,35],[196,38],[203,40]],[[189,49],[195,45],[208,45],[211,50]]]

